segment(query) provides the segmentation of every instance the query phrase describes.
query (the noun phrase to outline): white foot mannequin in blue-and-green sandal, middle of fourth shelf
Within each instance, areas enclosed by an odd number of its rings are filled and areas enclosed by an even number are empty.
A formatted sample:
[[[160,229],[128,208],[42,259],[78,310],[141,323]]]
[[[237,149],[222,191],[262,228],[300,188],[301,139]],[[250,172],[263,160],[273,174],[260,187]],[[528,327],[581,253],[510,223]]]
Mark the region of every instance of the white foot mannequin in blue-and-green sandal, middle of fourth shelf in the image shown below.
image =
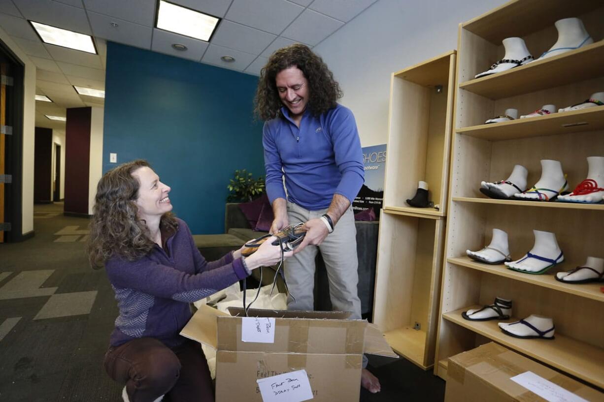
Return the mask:
[[[533,231],[535,245],[520,260],[504,263],[509,269],[526,273],[544,273],[564,261],[564,254],[558,246],[556,235],[551,232]]]

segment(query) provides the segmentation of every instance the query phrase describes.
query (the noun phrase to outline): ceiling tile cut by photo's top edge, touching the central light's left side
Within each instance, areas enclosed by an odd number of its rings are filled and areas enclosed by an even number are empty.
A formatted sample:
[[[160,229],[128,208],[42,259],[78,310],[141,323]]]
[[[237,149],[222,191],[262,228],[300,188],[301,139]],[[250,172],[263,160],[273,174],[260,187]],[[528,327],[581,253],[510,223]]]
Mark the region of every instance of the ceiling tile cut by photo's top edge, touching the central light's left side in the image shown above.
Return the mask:
[[[149,0],[84,0],[88,11],[146,27],[153,27],[155,24],[155,4],[155,1]]]

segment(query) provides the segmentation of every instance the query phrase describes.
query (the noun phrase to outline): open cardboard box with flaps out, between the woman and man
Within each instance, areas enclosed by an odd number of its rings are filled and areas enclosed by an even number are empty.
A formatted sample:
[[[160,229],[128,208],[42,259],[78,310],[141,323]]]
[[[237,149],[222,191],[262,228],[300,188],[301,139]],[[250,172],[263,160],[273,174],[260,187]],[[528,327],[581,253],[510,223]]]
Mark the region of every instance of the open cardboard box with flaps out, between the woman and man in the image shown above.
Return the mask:
[[[274,342],[242,341],[242,308],[202,306],[181,331],[216,349],[216,401],[262,402],[256,380],[305,369],[312,401],[358,401],[362,354],[398,357],[384,335],[342,311],[254,310],[274,317]]]

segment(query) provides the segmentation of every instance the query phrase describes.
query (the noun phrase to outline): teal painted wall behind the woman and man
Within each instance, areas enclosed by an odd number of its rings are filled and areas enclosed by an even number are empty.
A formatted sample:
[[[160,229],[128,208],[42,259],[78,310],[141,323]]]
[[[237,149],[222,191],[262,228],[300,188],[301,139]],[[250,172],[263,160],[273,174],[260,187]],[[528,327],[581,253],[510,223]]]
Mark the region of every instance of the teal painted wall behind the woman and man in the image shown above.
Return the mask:
[[[264,176],[262,122],[252,113],[258,78],[108,42],[103,173],[147,159],[172,187],[173,211],[193,234],[224,231],[234,170]]]

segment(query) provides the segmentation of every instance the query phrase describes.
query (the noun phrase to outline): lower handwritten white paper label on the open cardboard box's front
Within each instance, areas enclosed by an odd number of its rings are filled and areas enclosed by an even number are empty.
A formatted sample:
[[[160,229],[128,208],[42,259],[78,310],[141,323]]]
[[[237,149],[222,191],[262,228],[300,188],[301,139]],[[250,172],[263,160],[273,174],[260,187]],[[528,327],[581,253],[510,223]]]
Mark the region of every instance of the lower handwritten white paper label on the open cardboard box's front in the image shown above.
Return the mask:
[[[263,402],[301,402],[312,399],[306,370],[256,380]]]

